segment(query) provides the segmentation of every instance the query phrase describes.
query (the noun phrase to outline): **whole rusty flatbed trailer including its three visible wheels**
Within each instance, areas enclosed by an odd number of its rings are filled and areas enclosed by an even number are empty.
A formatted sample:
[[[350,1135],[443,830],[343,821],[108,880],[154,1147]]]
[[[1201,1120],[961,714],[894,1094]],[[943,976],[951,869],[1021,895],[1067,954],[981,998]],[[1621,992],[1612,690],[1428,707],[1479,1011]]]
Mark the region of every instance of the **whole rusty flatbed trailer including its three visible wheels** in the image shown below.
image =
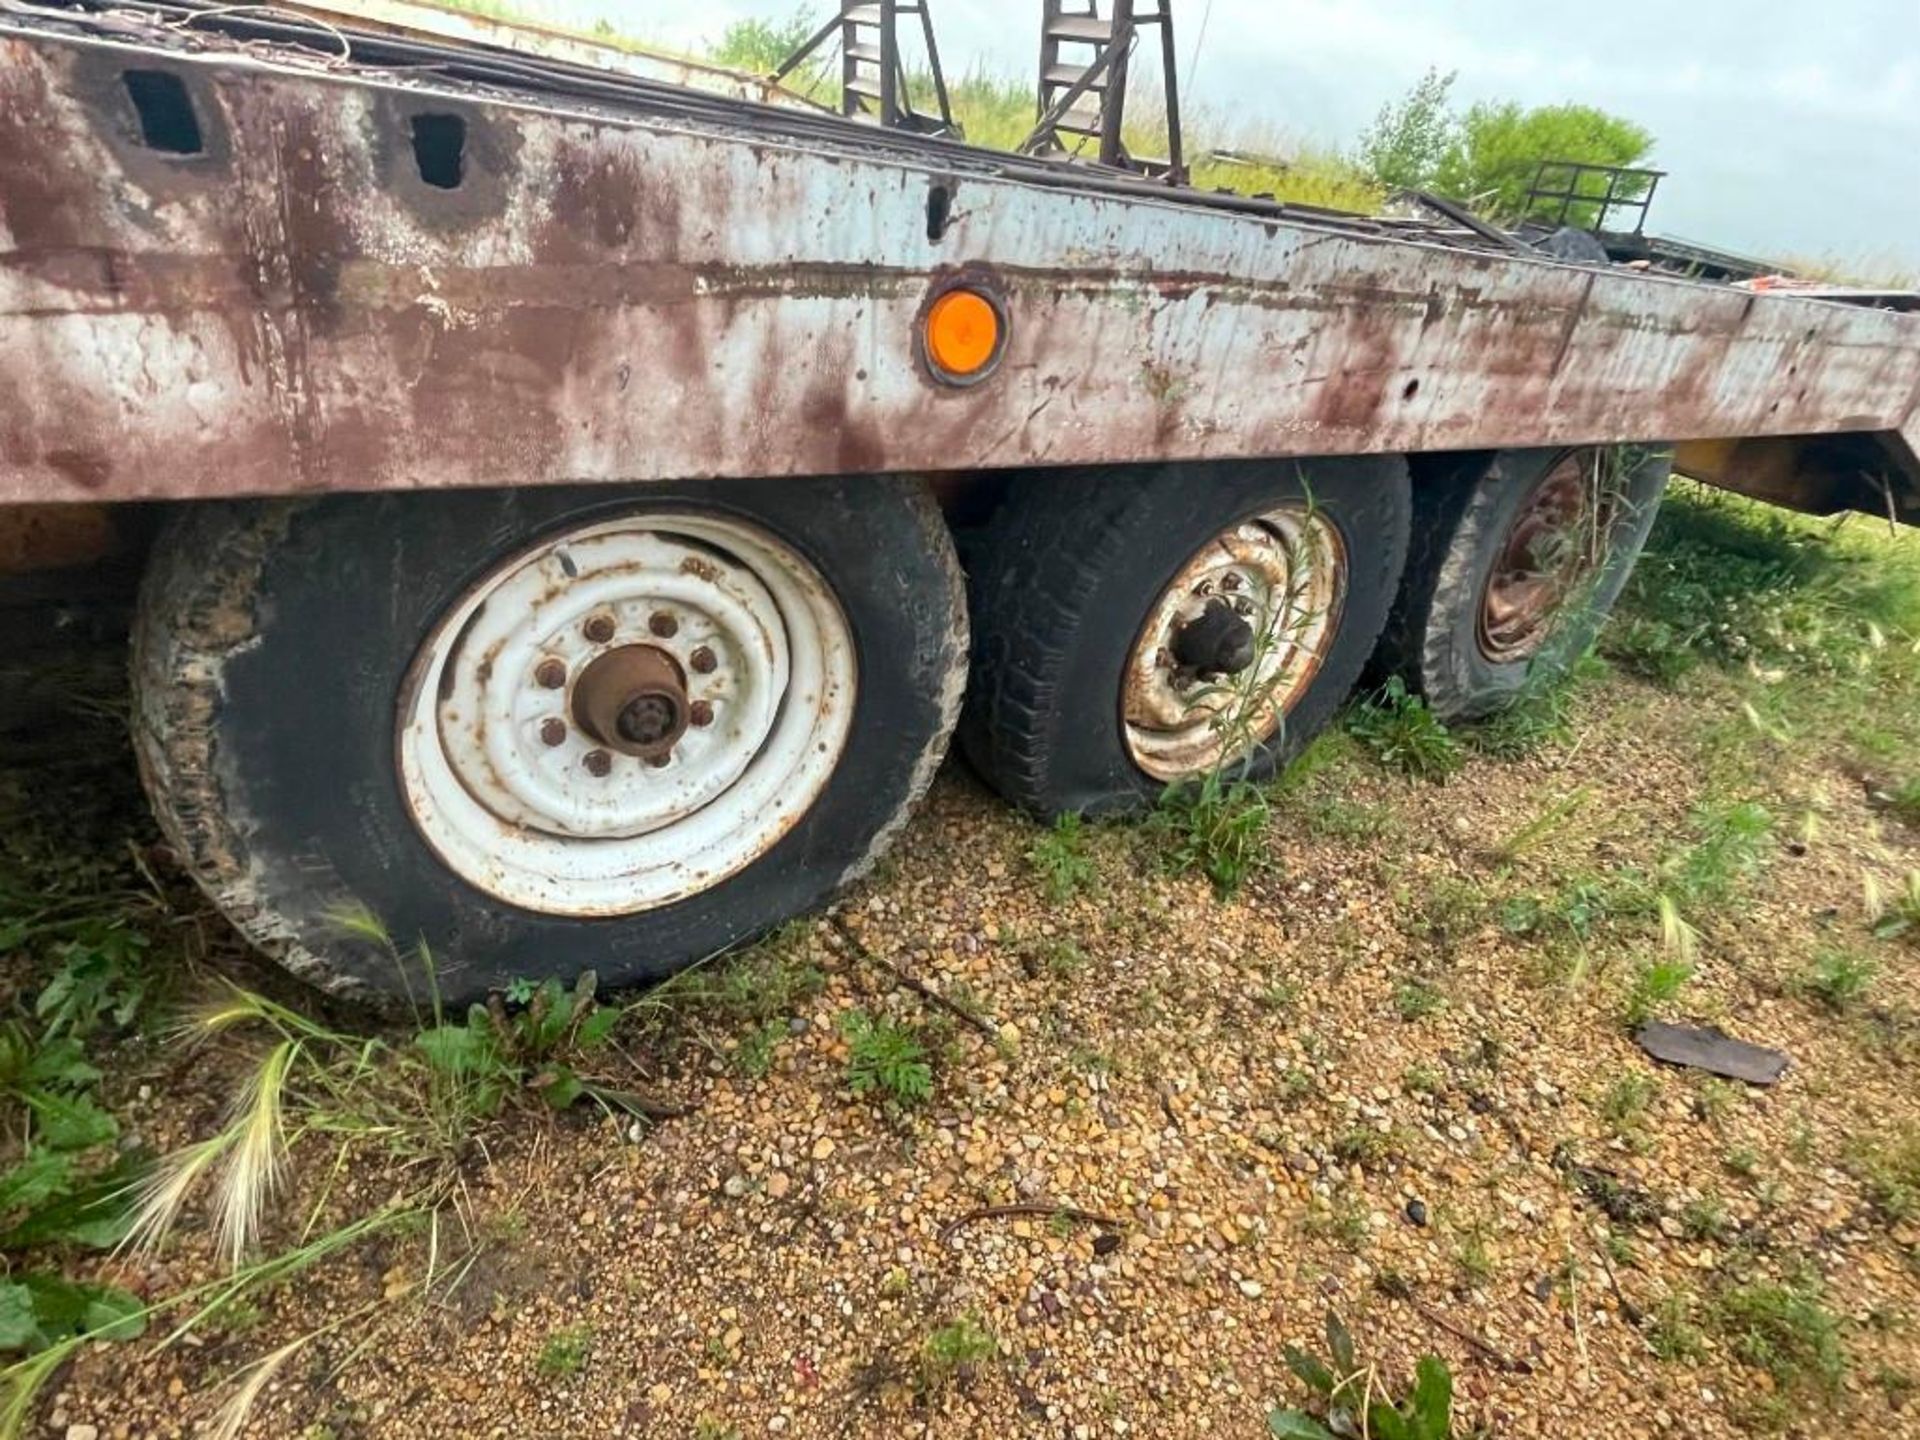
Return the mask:
[[[1263,774],[1369,660],[1486,712],[1670,465],[1920,520],[1916,313],[753,92],[0,0],[0,530],[165,503],[148,785],[323,985],[397,983],[346,904],[461,995],[764,929],[962,691],[1041,812]]]

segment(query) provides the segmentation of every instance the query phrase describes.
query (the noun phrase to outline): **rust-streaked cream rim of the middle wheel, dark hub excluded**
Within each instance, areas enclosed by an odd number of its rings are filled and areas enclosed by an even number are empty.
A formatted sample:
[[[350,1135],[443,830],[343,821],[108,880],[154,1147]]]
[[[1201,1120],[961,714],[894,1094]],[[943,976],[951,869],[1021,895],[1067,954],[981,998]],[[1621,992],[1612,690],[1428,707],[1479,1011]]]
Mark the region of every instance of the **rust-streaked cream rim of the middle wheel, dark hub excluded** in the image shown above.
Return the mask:
[[[1217,772],[1265,745],[1319,674],[1346,603],[1346,543],[1308,503],[1221,530],[1154,601],[1121,676],[1127,755],[1154,780]],[[1212,603],[1254,630],[1254,662],[1200,676],[1175,660],[1177,632]]]

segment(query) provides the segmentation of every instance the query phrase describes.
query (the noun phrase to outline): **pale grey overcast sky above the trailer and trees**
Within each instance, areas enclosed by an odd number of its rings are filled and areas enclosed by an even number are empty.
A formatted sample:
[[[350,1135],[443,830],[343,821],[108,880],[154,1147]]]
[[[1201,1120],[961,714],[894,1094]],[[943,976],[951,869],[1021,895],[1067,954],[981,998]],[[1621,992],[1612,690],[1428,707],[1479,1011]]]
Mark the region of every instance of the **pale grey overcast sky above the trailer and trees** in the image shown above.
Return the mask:
[[[605,15],[680,48],[737,17],[831,10],[520,4],[574,23]],[[950,69],[1033,69],[1041,0],[929,4]],[[1173,12],[1183,98],[1235,125],[1346,148],[1438,65],[1459,71],[1461,102],[1578,100],[1651,129],[1653,163],[1670,171],[1653,230],[1920,271],[1920,0],[1173,0]]]

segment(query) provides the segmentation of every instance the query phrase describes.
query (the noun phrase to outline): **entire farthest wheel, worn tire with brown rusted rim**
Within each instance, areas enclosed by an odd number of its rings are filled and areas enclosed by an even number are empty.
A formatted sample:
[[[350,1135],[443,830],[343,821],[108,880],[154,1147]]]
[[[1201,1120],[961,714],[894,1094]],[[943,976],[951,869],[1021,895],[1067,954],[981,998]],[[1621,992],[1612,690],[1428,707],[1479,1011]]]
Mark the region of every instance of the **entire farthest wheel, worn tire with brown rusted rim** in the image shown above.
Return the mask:
[[[1402,676],[1442,720],[1486,718],[1553,684],[1620,597],[1670,463],[1667,447],[1626,445],[1417,463],[1375,674]]]

